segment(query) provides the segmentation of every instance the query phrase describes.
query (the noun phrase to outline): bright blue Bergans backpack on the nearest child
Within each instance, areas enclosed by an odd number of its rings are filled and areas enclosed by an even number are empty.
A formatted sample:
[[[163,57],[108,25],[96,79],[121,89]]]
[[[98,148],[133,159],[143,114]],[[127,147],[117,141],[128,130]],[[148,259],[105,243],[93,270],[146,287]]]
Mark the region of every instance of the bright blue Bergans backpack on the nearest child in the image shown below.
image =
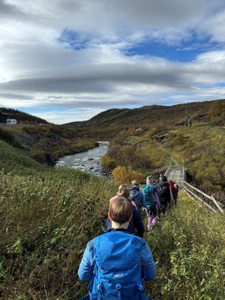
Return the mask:
[[[145,299],[142,243],[141,238],[121,231],[97,237],[94,243],[95,271],[88,287],[90,300]]]

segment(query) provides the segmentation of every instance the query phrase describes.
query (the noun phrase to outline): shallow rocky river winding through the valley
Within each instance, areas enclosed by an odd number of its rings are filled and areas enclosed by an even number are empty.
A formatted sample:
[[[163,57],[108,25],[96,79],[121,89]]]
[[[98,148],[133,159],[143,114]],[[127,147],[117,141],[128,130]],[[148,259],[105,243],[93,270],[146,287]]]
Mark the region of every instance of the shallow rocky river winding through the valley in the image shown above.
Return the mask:
[[[99,147],[59,158],[56,163],[56,167],[68,166],[110,179],[111,173],[102,167],[100,159],[102,155],[106,154],[109,142],[98,141],[98,143]]]

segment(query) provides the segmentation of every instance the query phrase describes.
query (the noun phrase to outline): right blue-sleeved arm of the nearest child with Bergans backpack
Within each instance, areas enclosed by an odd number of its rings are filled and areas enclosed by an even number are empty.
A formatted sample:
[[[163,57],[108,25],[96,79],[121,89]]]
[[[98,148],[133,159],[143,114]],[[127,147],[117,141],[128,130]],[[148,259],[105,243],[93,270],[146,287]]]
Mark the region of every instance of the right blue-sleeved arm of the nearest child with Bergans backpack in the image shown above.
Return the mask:
[[[149,249],[149,246],[146,242],[145,249],[142,248],[142,258],[141,262],[146,265],[146,281],[152,281],[154,278],[156,278],[156,264],[154,262],[152,252]]]

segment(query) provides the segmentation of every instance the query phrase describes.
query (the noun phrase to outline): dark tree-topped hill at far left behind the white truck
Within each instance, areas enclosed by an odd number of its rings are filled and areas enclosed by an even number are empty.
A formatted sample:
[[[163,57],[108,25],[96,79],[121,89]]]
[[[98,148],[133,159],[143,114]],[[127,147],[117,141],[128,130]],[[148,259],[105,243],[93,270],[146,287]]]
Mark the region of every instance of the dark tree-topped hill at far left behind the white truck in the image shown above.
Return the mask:
[[[19,111],[14,108],[0,107],[0,123],[6,123],[7,119],[16,119],[17,124],[39,124],[48,123],[46,120],[27,114],[24,111]]]

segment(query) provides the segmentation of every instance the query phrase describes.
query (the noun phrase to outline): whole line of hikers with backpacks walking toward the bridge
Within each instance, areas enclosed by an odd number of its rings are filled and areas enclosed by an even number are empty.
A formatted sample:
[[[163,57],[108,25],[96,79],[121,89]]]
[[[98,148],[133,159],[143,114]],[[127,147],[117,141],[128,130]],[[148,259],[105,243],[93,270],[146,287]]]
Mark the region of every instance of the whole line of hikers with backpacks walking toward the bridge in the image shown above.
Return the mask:
[[[132,187],[119,186],[110,199],[104,234],[88,242],[78,275],[81,281],[90,281],[88,295],[80,300],[147,300],[144,280],[156,277],[151,250],[143,238],[145,231],[141,211],[148,218],[147,229],[156,225],[161,214],[177,204],[178,185],[167,177],[153,181],[148,176],[142,191],[138,180]]]

